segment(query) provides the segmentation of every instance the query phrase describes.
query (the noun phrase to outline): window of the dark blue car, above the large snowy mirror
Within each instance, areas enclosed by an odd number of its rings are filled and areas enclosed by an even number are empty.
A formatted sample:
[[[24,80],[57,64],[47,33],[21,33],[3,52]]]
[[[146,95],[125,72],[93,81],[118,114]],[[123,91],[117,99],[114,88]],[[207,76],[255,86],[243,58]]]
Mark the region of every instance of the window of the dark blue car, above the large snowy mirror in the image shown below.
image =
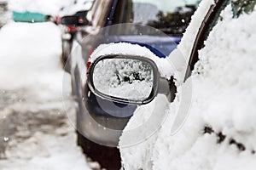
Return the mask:
[[[191,15],[194,14],[199,2],[200,0],[120,0],[112,24],[142,24],[169,35],[180,36],[189,25]]]

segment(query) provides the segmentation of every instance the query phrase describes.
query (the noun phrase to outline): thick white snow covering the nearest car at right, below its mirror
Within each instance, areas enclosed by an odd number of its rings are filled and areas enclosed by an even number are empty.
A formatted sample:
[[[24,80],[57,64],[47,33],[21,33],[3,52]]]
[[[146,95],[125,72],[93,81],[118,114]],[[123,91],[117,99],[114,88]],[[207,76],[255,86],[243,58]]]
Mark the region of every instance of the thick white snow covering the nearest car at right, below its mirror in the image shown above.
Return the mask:
[[[183,52],[189,57],[196,28],[211,3],[201,3],[178,47],[182,50],[176,50],[175,54]],[[193,82],[193,99],[183,128],[171,135],[172,122],[179,109],[180,94],[177,94],[157,133],[141,144],[121,147],[125,169],[256,168],[255,17],[254,11],[233,19],[231,7],[225,8],[223,20],[219,20],[210,33],[206,47],[200,51],[200,61],[189,78]],[[144,122],[150,114],[161,116],[161,111],[165,110],[156,111],[154,105],[163,105],[166,101],[159,98],[139,107],[126,129]],[[126,139],[124,133],[120,144]]]

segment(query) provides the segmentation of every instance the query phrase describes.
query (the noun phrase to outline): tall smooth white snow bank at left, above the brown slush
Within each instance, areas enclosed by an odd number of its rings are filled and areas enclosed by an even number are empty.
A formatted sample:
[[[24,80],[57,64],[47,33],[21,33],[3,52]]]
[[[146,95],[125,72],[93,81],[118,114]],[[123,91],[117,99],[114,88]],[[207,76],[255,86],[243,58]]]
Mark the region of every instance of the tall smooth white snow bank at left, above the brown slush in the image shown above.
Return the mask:
[[[0,31],[0,88],[36,84],[61,94],[61,32],[52,23],[11,23]]]

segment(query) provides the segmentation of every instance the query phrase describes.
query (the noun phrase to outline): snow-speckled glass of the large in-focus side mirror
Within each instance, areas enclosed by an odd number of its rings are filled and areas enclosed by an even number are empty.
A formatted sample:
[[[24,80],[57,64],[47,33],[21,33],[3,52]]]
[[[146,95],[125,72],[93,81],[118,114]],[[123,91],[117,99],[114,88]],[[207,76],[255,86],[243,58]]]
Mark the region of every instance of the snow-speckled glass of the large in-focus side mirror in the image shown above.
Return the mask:
[[[92,71],[97,91],[128,100],[148,99],[154,84],[154,69],[139,59],[102,59]]]

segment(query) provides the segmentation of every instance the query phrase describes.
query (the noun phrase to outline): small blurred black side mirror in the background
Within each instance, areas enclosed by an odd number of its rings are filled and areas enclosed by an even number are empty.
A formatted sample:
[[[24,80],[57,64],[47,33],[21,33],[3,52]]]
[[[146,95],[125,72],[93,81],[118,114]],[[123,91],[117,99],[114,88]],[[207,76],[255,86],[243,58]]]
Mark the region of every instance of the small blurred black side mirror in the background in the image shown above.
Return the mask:
[[[72,16],[63,16],[61,18],[61,24],[65,26],[85,26],[89,22],[85,19],[85,17],[79,15],[72,15]]]

